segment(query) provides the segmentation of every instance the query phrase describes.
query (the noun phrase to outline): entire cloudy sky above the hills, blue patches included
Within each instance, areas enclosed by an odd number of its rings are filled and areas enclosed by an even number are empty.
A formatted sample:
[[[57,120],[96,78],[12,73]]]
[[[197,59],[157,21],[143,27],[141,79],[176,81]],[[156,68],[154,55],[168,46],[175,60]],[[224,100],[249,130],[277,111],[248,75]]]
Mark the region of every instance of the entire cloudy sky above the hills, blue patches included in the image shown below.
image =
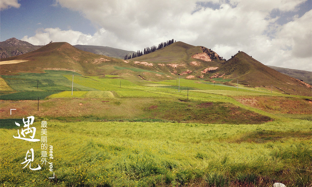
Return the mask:
[[[312,0],[1,0],[1,41],[141,50],[174,39],[312,71]]]

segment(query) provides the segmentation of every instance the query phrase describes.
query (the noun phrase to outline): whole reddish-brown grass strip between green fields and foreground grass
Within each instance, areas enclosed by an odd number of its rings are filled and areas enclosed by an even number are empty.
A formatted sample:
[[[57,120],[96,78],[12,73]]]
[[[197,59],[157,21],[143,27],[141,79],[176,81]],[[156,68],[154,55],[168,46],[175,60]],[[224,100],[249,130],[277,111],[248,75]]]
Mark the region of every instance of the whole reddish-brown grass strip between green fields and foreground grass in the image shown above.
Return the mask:
[[[16,102],[14,105],[2,101],[2,110],[17,109],[13,115],[3,113],[2,118],[36,115],[49,119],[70,121],[104,120],[104,121],[175,121],[200,123],[257,124],[272,120],[272,117],[237,107],[231,103],[202,102],[184,99],[161,98],[161,96],[140,98],[138,96],[113,98],[90,97],[82,93],[68,93],[71,100],[61,96],[63,93],[51,95],[49,99],[37,102]],[[135,93],[133,93],[135,94]],[[131,99],[129,99],[131,98]],[[28,106],[28,108],[27,108]],[[116,111],[123,111],[116,112]],[[67,119],[68,118],[68,119]]]

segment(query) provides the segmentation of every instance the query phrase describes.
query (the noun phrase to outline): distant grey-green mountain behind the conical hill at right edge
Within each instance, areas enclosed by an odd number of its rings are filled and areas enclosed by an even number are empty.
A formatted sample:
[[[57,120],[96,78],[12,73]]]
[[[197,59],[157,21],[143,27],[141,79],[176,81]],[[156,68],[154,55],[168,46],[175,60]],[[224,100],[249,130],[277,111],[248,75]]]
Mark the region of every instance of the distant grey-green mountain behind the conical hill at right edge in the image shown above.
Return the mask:
[[[305,83],[312,85],[312,72],[311,71],[294,70],[294,69],[281,68],[281,67],[275,67],[275,66],[270,66],[270,65],[267,65],[267,66],[282,74],[288,75],[290,77],[294,77],[296,79],[299,79]]]

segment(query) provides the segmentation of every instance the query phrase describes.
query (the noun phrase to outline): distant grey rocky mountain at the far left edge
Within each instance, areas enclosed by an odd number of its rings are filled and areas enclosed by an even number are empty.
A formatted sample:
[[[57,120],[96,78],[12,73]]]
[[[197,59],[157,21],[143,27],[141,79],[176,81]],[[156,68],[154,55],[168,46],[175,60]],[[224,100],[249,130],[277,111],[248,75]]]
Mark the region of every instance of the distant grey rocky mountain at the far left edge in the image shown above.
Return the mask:
[[[34,46],[27,41],[10,38],[0,42],[0,58],[22,55],[30,51],[39,49],[42,46]]]

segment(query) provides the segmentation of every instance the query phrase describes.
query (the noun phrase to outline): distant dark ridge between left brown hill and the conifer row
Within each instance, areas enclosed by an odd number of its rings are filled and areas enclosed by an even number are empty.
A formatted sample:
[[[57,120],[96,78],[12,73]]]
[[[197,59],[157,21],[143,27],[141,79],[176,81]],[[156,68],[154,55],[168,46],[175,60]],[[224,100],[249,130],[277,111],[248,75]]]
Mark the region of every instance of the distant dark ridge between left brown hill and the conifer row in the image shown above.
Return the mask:
[[[75,45],[77,49],[88,51],[94,54],[98,55],[105,55],[105,56],[110,56],[113,58],[119,58],[119,59],[124,59],[125,55],[132,55],[133,53],[136,53],[134,51],[127,51],[127,50],[122,50],[122,49],[116,49],[112,47],[107,47],[107,46],[86,46],[86,45]]]

